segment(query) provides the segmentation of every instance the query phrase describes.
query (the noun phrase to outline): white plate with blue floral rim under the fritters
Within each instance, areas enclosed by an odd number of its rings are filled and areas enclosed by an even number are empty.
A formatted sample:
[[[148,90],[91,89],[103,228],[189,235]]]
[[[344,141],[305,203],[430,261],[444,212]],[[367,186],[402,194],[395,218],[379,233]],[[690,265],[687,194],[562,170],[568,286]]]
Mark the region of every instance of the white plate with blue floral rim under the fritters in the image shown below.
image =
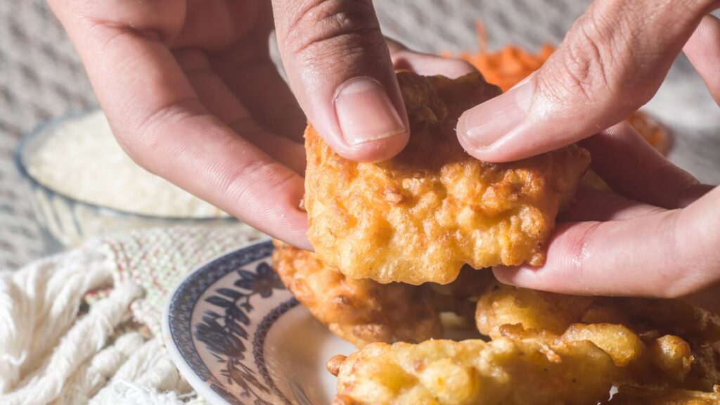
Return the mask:
[[[212,404],[330,404],[333,355],[354,347],[298,305],[271,269],[271,241],[225,254],[176,288],[163,339]]]

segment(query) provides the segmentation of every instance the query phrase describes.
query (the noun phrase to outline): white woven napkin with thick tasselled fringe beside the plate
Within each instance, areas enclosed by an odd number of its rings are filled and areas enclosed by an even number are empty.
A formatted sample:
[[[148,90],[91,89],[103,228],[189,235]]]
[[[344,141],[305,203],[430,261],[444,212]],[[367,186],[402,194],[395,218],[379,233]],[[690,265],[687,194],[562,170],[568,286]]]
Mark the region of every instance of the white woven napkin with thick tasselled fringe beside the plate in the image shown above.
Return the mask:
[[[0,404],[204,403],[163,347],[166,298],[200,264],[261,236],[136,231],[0,272]]]

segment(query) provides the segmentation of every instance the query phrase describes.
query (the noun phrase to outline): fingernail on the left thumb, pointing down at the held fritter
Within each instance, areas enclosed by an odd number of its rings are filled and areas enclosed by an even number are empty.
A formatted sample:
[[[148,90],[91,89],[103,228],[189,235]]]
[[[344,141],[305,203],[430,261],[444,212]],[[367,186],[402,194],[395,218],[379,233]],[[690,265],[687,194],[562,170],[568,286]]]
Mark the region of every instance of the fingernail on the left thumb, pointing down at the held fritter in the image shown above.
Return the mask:
[[[356,77],[341,84],[333,98],[343,138],[351,146],[390,138],[405,125],[382,84]]]

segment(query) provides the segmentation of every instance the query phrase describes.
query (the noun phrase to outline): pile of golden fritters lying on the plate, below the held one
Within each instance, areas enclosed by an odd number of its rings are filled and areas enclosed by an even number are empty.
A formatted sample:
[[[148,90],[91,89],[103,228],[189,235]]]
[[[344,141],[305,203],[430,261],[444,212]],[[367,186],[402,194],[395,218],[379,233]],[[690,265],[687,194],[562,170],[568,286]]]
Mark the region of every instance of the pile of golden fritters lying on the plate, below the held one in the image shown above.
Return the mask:
[[[720,401],[720,319],[686,303],[543,293],[501,285],[489,270],[463,270],[441,292],[383,285],[276,246],[275,268],[297,299],[363,347],[328,362],[336,404],[585,405],[608,401],[612,386],[613,405]],[[441,312],[471,301],[491,342],[431,339]]]

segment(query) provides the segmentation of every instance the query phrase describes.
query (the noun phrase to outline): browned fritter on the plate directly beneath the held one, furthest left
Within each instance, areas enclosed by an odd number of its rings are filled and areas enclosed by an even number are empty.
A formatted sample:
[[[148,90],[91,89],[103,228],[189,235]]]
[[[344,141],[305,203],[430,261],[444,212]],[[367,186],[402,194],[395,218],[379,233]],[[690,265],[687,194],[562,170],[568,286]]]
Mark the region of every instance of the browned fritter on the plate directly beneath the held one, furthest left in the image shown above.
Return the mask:
[[[273,270],[288,290],[312,316],[356,347],[422,342],[441,337],[443,326],[474,327],[474,298],[495,281],[490,270],[465,268],[449,285],[379,284],[346,277],[312,252],[277,240],[273,244]]]

